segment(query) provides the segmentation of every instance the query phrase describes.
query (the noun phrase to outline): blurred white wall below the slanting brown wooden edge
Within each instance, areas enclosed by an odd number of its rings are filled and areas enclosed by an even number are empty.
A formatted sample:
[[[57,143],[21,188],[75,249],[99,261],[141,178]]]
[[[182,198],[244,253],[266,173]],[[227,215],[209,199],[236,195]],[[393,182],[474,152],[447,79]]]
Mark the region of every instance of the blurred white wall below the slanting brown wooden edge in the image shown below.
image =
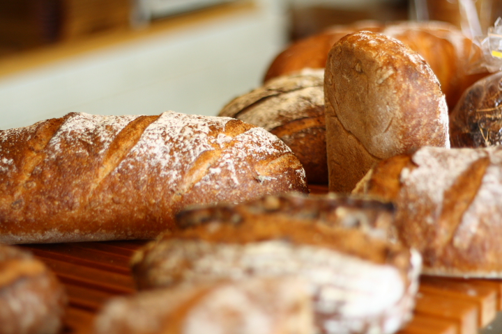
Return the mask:
[[[0,129],[72,111],[216,115],[261,84],[286,42],[281,0],[0,77]]]

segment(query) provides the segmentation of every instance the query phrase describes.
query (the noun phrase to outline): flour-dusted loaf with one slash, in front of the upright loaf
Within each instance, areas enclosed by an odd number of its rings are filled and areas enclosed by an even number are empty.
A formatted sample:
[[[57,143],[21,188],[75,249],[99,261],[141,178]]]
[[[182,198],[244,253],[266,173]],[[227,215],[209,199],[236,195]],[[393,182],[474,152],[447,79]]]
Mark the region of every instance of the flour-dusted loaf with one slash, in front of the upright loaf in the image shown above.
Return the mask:
[[[420,148],[381,161],[354,192],[395,202],[396,233],[424,273],[502,278],[502,148]]]

